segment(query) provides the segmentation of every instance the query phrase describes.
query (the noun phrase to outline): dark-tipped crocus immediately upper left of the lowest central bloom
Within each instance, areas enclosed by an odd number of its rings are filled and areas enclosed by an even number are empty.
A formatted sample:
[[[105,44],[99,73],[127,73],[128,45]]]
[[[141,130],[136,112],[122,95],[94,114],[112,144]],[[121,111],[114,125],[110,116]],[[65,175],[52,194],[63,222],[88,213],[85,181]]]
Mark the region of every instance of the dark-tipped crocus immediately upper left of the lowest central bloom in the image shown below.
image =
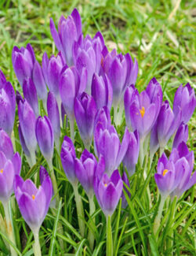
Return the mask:
[[[88,150],[83,151],[80,160],[78,158],[75,159],[75,174],[89,198],[92,198],[94,195],[93,180],[96,165],[96,158]]]

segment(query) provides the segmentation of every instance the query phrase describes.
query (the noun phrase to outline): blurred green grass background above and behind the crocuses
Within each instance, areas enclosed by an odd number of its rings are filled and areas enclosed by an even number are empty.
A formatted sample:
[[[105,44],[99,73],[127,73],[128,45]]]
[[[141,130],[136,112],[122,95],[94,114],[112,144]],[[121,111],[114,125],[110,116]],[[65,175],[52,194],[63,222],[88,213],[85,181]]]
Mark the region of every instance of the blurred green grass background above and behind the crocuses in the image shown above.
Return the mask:
[[[15,88],[19,85],[11,62],[13,46],[31,43],[38,61],[44,51],[55,54],[49,18],[57,25],[60,16],[67,17],[75,7],[82,16],[85,35],[93,36],[100,30],[110,49],[115,47],[137,58],[139,91],[155,76],[172,105],[180,83],[196,87],[195,1],[1,0],[0,68]],[[192,132],[195,126],[192,118]]]

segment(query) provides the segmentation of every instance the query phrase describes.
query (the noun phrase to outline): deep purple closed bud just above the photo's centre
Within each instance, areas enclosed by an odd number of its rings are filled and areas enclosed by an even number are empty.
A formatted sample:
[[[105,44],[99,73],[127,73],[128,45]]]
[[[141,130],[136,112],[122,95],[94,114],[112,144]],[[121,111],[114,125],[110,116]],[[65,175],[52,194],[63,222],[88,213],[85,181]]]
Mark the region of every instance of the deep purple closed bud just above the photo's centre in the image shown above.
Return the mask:
[[[111,109],[112,87],[111,82],[106,76],[93,75],[91,94],[96,102],[97,109],[107,106]]]

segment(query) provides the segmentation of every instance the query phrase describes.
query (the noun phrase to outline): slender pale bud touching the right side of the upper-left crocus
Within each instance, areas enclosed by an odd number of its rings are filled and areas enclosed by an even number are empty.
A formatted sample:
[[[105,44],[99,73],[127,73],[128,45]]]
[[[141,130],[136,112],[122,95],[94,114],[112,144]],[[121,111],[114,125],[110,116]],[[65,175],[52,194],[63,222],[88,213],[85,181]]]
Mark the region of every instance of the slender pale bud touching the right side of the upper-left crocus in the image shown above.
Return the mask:
[[[45,85],[42,68],[39,65],[38,61],[34,62],[33,81],[36,87],[36,91],[38,93],[38,98],[42,99],[42,101],[45,103],[47,98],[47,88]]]

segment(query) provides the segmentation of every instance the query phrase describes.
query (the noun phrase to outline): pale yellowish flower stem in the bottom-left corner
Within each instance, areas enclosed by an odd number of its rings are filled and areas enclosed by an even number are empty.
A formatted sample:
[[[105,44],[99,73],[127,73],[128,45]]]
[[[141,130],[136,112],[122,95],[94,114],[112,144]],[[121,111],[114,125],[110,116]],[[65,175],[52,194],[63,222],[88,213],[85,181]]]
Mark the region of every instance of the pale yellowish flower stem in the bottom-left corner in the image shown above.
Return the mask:
[[[9,217],[9,201],[3,203],[4,212],[5,212],[5,220],[6,220],[6,231],[9,236],[9,240],[16,245],[14,234],[13,234],[13,225]],[[16,251],[10,245],[10,251],[12,256],[17,256]]]

